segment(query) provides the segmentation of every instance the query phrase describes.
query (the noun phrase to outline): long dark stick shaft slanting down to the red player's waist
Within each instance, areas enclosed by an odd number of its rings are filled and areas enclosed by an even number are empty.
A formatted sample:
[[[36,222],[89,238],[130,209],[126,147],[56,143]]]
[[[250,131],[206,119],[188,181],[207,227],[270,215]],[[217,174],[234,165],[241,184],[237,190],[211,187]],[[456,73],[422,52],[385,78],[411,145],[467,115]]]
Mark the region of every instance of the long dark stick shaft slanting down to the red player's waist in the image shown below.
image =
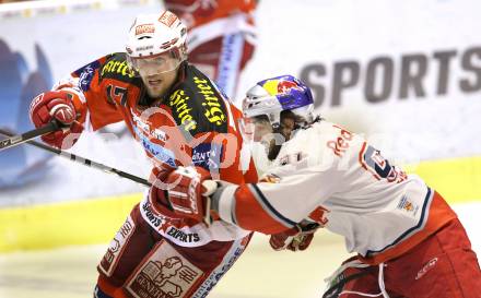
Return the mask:
[[[13,133],[11,133],[9,131],[5,131],[3,129],[0,129],[0,133],[4,134],[7,136],[14,136]],[[7,139],[7,140],[9,140],[9,139]],[[7,140],[4,140],[4,141],[7,141]],[[0,141],[0,142],[3,142],[3,141]],[[108,172],[108,174],[116,174],[116,175],[118,175],[118,176],[120,176],[122,178],[130,179],[132,181],[136,181],[138,183],[144,184],[146,187],[151,187],[152,186],[148,180],[145,180],[143,178],[137,177],[134,175],[125,172],[125,171],[116,169],[116,168],[108,167],[106,165],[103,165],[101,163],[96,163],[96,162],[87,159],[87,158],[83,158],[83,157],[81,157],[79,155],[75,155],[75,154],[72,154],[72,153],[68,153],[68,152],[62,151],[62,150],[58,150],[56,147],[52,147],[52,146],[49,146],[49,145],[45,145],[45,144],[42,144],[40,142],[36,142],[36,141],[33,141],[33,140],[25,140],[22,143],[25,143],[25,142],[28,145],[32,145],[32,146],[35,146],[35,147],[38,147],[38,148],[51,152],[54,154],[60,155],[60,156],[62,156],[62,157],[64,157],[67,159],[77,162],[77,163],[82,164],[84,166],[93,167],[93,168],[103,170],[103,171]]]

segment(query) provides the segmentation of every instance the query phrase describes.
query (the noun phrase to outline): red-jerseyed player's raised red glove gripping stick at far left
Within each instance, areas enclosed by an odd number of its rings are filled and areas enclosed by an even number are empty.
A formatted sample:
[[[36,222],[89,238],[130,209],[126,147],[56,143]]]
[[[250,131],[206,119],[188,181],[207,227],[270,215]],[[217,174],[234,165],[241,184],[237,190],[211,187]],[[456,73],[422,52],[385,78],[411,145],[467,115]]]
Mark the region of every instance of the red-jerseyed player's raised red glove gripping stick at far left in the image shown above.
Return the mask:
[[[72,96],[64,91],[48,91],[35,97],[30,106],[30,117],[35,128],[51,121],[60,124],[60,130],[42,136],[44,142],[57,148],[71,147],[83,131],[83,126],[77,121]]]

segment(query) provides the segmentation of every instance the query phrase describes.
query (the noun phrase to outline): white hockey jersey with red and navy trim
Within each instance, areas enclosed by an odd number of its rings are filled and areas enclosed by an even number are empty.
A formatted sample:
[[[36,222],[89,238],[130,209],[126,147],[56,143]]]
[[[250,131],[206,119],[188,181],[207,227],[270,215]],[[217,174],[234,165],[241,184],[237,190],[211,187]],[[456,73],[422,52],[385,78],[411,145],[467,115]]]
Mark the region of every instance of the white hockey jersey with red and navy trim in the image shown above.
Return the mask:
[[[418,176],[327,121],[295,132],[260,182],[226,186],[213,205],[222,219],[265,234],[315,220],[368,263],[400,255],[456,217]]]

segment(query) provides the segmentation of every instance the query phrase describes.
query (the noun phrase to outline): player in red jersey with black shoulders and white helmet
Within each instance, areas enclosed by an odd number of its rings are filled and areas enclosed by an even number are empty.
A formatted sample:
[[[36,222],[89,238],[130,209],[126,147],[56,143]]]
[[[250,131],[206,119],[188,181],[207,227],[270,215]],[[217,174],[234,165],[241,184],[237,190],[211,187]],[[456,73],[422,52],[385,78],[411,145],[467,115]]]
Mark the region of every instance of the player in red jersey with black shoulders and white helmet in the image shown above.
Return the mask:
[[[206,297],[243,253],[251,233],[218,220],[210,227],[176,215],[165,177],[177,166],[203,168],[234,183],[256,181],[241,163],[241,111],[187,62],[186,26],[169,11],[139,15],[127,52],[107,55],[38,95],[31,118],[63,129],[43,136],[56,147],[124,121],[154,164],[154,187],[133,207],[98,265],[95,297]]]

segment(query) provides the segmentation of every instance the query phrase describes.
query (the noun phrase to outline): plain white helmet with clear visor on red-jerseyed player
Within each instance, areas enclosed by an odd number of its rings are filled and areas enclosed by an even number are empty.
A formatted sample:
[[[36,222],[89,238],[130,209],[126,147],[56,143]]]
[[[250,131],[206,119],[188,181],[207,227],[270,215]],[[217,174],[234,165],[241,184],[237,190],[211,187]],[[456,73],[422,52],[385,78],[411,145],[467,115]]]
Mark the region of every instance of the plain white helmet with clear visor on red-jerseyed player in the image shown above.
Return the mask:
[[[140,14],[129,29],[127,62],[138,72],[145,61],[154,63],[160,73],[172,71],[187,59],[186,38],[186,26],[173,12]],[[156,59],[161,56],[164,59]]]

